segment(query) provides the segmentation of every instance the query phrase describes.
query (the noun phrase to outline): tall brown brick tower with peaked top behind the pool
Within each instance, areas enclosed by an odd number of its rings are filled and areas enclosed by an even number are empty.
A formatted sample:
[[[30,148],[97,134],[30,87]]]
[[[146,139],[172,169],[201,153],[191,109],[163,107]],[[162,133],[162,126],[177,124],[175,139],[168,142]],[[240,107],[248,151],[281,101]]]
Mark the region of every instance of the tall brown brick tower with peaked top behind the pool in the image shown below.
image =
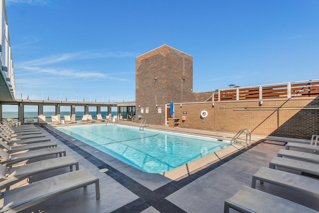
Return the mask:
[[[137,117],[142,115],[142,119],[152,124],[165,125],[165,102],[192,101],[192,88],[192,56],[162,45],[136,58]],[[158,113],[159,107],[161,113]]]

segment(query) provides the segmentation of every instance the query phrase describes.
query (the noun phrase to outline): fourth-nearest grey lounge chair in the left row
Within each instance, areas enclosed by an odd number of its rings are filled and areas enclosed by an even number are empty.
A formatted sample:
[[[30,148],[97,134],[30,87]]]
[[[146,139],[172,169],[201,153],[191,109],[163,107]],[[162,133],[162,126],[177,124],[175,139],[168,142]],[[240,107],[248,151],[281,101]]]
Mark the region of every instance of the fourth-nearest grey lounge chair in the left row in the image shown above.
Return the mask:
[[[39,142],[33,144],[22,144],[22,145],[13,145],[10,146],[3,141],[0,140],[0,146],[7,150],[8,153],[19,152],[23,150],[33,150],[33,149],[41,149],[41,148],[50,148],[50,147],[57,147],[57,143],[54,141],[48,142]]]

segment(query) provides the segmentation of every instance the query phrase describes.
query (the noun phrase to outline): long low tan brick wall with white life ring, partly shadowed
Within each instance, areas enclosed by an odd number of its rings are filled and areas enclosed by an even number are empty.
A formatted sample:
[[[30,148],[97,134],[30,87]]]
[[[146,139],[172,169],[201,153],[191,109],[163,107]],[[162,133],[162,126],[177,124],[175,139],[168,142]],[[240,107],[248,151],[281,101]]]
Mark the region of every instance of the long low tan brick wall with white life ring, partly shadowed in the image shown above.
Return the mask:
[[[319,110],[306,109],[307,106],[319,106],[319,98],[264,100],[262,106],[258,100],[215,102],[214,107],[212,102],[183,103],[181,108],[176,103],[174,116],[180,118],[178,127],[181,128],[234,133],[248,128],[253,134],[310,139],[313,134],[319,134]],[[255,109],[248,110],[249,107]],[[205,119],[200,118],[202,110],[208,112]],[[186,116],[185,121],[182,116]]]

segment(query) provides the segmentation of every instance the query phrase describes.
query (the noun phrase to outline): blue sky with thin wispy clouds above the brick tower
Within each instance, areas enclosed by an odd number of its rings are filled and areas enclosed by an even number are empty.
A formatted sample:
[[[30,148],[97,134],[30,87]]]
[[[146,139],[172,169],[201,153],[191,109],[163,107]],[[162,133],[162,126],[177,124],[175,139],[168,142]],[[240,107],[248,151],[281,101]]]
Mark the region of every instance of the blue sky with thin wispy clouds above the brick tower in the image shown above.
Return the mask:
[[[193,56],[193,91],[319,79],[318,0],[6,0],[16,98],[135,101],[135,58]]]

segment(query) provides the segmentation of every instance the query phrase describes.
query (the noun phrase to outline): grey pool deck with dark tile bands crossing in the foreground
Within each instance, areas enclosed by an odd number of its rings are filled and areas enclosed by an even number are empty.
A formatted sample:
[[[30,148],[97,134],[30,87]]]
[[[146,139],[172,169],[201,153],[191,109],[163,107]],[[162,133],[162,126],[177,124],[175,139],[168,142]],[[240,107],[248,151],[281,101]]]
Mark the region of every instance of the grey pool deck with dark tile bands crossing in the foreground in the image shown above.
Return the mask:
[[[117,124],[138,126],[134,122],[126,121]],[[236,134],[153,125],[149,128],[227,140]],[[279,150],[285,149],[285,142],[299,141],[252,135],[253,144],[248,148],[235,145],[228,150],[218,151],[221,154],[211,154],[196,163],[176,168],[173,172],[150,174],[86,145],[50,125],[41,126],[39,129],[51,141],[56,141],[59,147],[64,148],[68,156],[77,159],[80,169],[86,169],[99,178],[101,198],[95,199],[95,187],[89,185],[37,204],[23,212],[222,213],[224,201],[233,196],[241,185],[250,187],[252,175],[261,166],[268,167]],[[101,169],[108,171],[100,172]],[[41,173],[13,187],[66,172],[69,172],[68,168]],[[267,183],[261,185],[257,182],[256,188],[319,211],[318,199],[314,197]],[[3,202],[2,200],[0,201]]]

